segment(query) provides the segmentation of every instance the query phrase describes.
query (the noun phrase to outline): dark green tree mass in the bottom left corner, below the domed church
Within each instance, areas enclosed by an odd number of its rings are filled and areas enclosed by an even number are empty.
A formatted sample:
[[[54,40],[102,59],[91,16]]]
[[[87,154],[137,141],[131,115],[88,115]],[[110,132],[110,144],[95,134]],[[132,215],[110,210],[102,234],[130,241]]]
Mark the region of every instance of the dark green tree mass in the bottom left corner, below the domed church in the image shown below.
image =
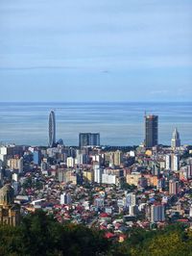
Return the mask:
[[[102,255],[109,249],[103,233],[82,225],[60,225],[39,211],[18,227],[0,226],[0,255]]]

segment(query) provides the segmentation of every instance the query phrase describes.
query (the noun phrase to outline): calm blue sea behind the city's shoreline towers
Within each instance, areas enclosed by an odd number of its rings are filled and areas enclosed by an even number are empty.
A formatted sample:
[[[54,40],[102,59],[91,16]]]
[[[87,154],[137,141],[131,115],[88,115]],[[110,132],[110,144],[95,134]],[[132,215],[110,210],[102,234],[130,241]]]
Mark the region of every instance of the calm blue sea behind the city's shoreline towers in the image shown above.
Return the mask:
[[[80,132],[100,132],[102,144],[139,144],[145,111],[158,115],[159,143],[170,144],[178,127],[181,142],[192,144],[192,103],[0,103],[0,141],[47,145],[51,110],[66,145],[78,144]]]

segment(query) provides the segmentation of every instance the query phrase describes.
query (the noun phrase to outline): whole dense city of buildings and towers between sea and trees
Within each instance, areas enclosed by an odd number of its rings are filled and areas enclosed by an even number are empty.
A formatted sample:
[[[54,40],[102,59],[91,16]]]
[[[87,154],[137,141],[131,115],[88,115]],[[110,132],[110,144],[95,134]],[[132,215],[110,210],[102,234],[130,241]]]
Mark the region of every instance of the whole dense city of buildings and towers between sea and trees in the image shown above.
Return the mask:
[[[40,209],[120,243],[132,228],[190,227],[192,146],[181,144],[177,128],[170,145],[159,144],[158,125],[157,115],[144,115],[138,146],[105,146],[91,132],[79,134],[78,146],[65,146],[51,111],[47,146],[0,146],[1,223],[19,225]]]

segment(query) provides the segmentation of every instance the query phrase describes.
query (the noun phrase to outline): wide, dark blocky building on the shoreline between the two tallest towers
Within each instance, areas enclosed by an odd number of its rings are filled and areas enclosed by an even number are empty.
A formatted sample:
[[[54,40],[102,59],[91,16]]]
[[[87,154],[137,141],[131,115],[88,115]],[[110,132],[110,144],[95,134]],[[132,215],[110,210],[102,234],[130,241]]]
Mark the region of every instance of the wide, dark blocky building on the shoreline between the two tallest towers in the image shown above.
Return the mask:
[[[100,145],[100,134],[99,133],[80,133],[79,145],[83,146],[98,146]]]

